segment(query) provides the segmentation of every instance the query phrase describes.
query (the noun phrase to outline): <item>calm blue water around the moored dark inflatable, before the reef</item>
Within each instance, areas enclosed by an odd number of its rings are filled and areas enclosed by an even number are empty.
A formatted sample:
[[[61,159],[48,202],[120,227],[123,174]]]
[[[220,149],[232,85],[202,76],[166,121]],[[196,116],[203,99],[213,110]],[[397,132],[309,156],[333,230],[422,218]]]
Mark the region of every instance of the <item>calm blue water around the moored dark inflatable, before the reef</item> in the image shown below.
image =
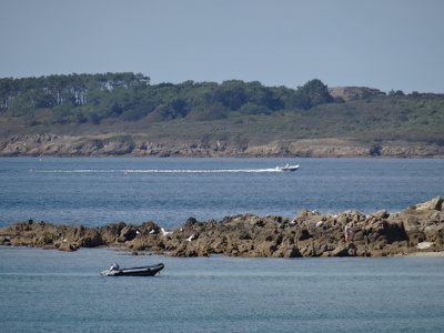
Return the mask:
[[[153,278],[99,272],[163,262]],[[443,258],[180,259],[0,246],[2,332],[442,332]]]

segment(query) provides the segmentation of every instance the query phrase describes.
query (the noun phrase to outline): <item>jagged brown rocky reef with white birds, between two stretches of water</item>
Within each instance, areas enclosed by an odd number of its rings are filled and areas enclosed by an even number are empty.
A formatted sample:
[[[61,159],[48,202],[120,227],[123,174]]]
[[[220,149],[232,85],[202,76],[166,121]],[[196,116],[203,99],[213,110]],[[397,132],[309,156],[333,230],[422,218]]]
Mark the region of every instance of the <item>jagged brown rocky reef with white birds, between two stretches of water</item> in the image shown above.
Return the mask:
[[[172,256],[385,256],[444,251],[444,199],[437,196],[397,213],[345,211],[321,214],[302,210],[294,219],[241,214],[221,221],[190,218],[181,228],[141,225],[53,225],[32,220],[0,229],[0,244],[74,251],[118,246],[133,254]],[[344,240],[344,226],[351,228]]]

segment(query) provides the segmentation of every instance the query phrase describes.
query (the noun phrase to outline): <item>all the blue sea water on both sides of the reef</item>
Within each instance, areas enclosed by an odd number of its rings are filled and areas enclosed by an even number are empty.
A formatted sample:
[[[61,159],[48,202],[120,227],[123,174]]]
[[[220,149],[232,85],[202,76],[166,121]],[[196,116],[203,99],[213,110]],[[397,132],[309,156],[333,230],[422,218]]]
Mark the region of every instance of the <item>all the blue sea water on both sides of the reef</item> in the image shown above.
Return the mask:
[[[278,165],[299,164],[294,172]],[[0,226],[401,211],[443,159],[0,158]],[[101,276],[112,263],[160,274]],[[0,246],[0,332],[443,332],[444,256],[170,258]]]

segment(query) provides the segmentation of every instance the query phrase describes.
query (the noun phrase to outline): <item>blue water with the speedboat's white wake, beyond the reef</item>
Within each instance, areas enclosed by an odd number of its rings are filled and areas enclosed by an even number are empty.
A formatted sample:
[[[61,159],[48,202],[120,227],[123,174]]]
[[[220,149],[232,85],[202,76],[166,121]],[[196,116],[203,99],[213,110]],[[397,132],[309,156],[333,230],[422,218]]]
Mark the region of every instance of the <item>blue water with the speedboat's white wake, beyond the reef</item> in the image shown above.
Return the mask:
[[[276,165],[300,164],[295,172]],[[444,160],[0,158],[0,226],[33,219],[163,228],[301,209],[397,212],[444,195]]]

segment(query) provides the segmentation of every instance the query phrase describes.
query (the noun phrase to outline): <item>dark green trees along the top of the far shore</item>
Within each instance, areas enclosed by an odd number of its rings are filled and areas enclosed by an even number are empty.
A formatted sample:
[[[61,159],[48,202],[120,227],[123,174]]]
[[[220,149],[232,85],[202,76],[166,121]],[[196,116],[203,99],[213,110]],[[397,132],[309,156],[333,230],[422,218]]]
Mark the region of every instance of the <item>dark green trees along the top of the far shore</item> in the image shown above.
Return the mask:
[[[297,89],[229,80],[150,84],[141,73],[69,74],[0,79],[0,111],[26,115],[51,110],[49,122],[100,123],[107,118],[152,121],[216,120],[281,110],[310,110],[337,102],[319,79]]]

